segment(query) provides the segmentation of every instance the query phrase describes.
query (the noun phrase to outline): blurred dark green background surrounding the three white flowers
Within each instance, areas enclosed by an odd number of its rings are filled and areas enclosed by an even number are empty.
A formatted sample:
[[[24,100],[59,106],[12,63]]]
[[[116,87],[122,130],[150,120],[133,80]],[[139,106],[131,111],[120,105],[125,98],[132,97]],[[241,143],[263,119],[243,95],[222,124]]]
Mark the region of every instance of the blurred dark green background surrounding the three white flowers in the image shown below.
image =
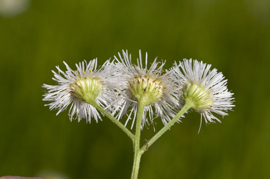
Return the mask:
[[[51,70],[64,70],[62,61],[102,65],[128,49],[135,62],[141,49],[166,68],[183,58],[212,64],[236,107],[199,134],[200,115],[187,114],[142,156],[139,179],[270,178],[269,0],[32,0],[23,8],[9,13],[0,3],[0,176],[129,179],[131,140],[107,118],[56,116],[41,86],[55,84]],[[142,144],[153,134],[145,128]]]

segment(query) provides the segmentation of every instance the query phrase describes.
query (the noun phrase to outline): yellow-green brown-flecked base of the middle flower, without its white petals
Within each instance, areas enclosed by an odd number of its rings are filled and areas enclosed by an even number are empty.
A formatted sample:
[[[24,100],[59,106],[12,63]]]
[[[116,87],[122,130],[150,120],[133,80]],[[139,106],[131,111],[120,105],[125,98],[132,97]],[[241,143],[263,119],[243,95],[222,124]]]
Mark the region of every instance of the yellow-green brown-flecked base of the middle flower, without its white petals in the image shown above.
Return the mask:
[[[149,75],[136,76],[130,80],[130,90],[134,97],[143,100],[145,105],[149,105],[160,99],[164,92],[161,80]]]

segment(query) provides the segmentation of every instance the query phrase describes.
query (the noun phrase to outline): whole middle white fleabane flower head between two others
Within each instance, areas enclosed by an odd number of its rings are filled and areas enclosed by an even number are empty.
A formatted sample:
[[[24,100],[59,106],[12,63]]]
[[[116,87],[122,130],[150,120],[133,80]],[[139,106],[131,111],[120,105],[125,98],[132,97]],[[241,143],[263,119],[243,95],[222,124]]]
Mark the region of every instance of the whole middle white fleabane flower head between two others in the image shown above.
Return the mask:
[[[171,117],[174,117],[175,108],[179,105],[177,95],[180,87],[175,85],[175,78],[169,73],[163,74],[165,62],[157,62],[156,58],[147,69],[147,53],[145,55],[145,67],[142,65],[141,52],[137,58],[137,65],[131,62],[131,54],[123,50],[123,57],[120,53],[119,58],[115,56],[117,70],[122,74],[122,80],[119,85],[122,89],[121,95],[118,96],[118,114],[120,119],[124,114],[128,115],[129,120],[133,120],[133,128],[138,102],[145,105],[142,114],[141,129],[145,124],[152,122],[155,117],[160,117],[163,124],[166,125]],[[179,120],[180,121],[180,120]]]

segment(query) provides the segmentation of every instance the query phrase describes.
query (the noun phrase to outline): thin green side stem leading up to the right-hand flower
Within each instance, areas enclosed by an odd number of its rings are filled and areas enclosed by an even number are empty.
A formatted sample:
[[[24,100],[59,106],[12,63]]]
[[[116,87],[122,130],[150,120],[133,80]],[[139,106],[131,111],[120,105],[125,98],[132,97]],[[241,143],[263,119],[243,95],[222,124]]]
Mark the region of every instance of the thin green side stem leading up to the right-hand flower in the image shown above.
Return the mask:
[[[150,140],[147,141],[146,144],[144,144],[141,149],[139,150],[139,153],[142,155],[147,149],[162,135],[164,134],[176,121],[179,119],[190,107],[192,107],[194,104],[192,101],[187,100],[184,107],[176,114],[174,118],[171,119],[170,122],[168,122],[167,125],[165,125],[160,131],[158,131]]]

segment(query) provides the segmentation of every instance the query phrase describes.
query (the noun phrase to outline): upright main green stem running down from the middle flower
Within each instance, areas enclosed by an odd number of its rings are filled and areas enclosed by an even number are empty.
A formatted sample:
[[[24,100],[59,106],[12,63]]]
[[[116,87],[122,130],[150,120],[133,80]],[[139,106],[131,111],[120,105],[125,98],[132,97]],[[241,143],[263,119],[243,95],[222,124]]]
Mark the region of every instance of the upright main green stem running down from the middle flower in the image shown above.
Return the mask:
[[[136,132],[135,132],[135,140],[134,140],[134,162],[133,162],[133,170],[131,179],[137,179],[138,171],[139,171],[139,162],[141,153],[139,151],[139,141],[140,141],[140,126],[142,120],[142,113],[144,109],[144,102],[143,99],[139,100],[138,108],[137,108],[137,119],[136,119]]]

